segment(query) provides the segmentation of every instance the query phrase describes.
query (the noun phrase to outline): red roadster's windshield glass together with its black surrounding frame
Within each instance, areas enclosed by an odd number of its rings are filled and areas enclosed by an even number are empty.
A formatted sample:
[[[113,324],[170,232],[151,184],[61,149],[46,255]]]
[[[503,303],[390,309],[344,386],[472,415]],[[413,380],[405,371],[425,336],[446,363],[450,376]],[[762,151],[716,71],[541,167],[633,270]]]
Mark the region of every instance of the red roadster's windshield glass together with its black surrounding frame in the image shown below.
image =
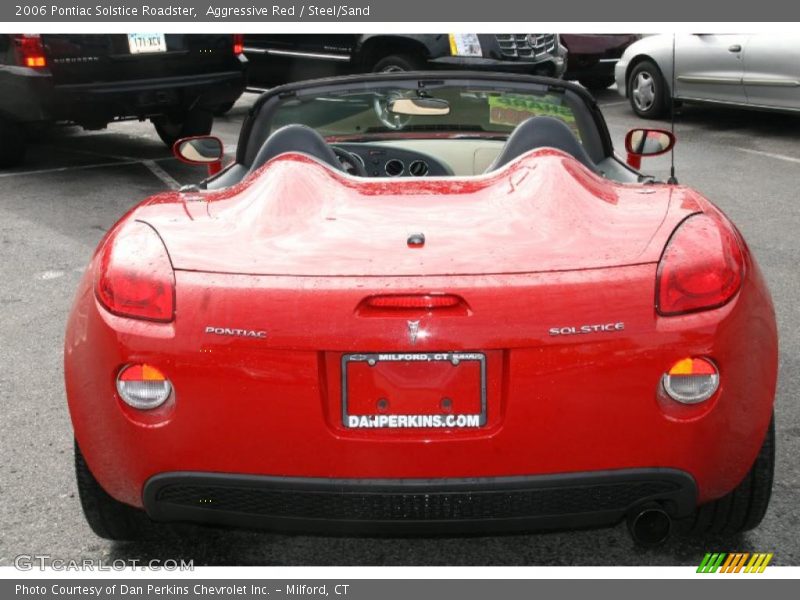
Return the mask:
[[[393,100],[445,102],[446,113],[391,114]],[[565,123],[591,160],[613,155],[608,130],[594,100],[582,89],[545,78],[469,77],[380,78],[303,82],[273,88],[257,101],[245,124],[237,161],[250,167],[272,132],[290,124],[315,129],[329,143],[396,139],[475,138],[505,140],[531,117],[546,115]]]

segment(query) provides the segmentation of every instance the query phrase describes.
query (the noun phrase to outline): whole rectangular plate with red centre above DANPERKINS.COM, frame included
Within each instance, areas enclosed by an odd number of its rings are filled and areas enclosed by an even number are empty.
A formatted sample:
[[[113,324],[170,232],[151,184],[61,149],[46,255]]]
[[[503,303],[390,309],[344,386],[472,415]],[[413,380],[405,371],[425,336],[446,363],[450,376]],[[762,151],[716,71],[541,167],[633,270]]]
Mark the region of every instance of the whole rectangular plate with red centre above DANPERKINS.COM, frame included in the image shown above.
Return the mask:
[[[486,356],[479,352],[346,354],[342,423],[350,429],[486,425]]]

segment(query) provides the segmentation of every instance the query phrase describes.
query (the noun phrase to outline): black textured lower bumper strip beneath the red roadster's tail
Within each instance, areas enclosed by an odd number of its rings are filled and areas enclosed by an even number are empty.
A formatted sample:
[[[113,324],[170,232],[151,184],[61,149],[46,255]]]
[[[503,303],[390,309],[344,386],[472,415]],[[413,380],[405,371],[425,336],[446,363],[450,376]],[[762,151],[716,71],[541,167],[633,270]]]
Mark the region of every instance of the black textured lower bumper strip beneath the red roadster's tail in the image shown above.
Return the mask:
[[[696,497],[692,477],[671,469],[433,480],[162,473],[144,488],[156,521],[339,534],[599,527],[650,502],[688,516]]]

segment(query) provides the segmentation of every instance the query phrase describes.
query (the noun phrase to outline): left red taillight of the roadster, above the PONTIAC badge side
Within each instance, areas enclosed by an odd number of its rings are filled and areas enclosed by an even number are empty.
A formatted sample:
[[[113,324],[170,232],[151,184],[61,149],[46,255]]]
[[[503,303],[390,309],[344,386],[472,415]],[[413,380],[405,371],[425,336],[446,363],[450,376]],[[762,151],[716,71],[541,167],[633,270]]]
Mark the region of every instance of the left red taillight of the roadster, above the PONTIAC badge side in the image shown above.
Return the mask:
[[[94,278],[100,303],[123,317],[175,318],[175,273],[155,230],[134,221],[106,240]]]

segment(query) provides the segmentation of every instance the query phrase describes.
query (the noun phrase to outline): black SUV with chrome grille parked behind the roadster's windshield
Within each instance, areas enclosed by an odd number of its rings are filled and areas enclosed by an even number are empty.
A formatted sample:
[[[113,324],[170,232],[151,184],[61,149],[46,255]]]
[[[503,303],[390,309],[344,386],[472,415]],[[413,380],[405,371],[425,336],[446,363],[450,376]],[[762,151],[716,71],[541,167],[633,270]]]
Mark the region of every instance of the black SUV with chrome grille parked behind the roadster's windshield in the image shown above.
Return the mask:
[[[244,38],[250,81],[275,85],[342,73],[469,69],[561,77],[566,49],[554,33],[279,35]]]

